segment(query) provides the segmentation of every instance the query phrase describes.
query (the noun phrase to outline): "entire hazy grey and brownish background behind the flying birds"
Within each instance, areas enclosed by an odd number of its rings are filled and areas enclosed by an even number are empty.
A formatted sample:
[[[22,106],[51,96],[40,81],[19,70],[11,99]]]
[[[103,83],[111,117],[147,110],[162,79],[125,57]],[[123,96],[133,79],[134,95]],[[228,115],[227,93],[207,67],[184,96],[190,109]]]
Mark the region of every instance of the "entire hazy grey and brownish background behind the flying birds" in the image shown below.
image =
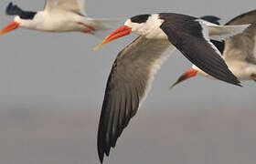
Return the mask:
[[[0,1],[1,27],[9,0]],[[27,10],[44,1],[19,0]],[[230,4],[231,3],[231,4]],[[92,17],[158,12],[217,15],[221,23],[256,8],[251,0],[87,0]],[[99,163],[97,128],[106,80],[127,36],[99,51],[101,40],[81,33],[18,29],[0,38],[0,163]],[[251,164],[256,161],[255,82],[234,87],[197,77],[168,91],[190,63],[169,57],[144,106],[119,138],[106,164]]]

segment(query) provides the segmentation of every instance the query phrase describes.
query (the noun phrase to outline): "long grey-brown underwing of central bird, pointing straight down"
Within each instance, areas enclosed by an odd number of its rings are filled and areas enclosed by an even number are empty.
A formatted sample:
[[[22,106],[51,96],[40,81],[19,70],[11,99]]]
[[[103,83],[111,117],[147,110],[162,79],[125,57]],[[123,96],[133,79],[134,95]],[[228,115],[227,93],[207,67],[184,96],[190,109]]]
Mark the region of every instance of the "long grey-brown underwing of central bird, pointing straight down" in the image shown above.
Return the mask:
[[[138,37],[116,57],[105,90],[98,131],[101,162],[109,156],[117,138],[128,125],[149,91],[156,71],[174,49],[168,40]]]

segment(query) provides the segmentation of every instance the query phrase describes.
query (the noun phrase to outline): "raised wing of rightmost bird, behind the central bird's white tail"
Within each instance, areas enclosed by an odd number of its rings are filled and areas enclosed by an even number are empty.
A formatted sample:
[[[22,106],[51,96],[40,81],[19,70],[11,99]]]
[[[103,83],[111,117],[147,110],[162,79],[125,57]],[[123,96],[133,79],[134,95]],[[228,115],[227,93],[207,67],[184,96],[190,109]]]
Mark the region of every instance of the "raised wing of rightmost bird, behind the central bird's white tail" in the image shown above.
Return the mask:
[[[256,10],[239,15],[227,23],[229,26],[251,24],[242,34],[225,40],[225,60],[246,60],[256,64]]]

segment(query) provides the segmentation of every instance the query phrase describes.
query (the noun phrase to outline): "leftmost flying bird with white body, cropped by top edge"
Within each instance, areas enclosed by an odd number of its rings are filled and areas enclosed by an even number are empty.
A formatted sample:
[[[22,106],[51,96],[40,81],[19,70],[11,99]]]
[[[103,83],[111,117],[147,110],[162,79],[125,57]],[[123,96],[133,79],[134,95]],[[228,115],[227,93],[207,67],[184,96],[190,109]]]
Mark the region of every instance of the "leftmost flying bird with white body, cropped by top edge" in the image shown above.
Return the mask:
[[[101,37],[120,20],[94,19],[88,17],[84,10],[84,0],[46,0],[43,11],[24,11],[10,3],[5,10],[6,15],[16,15],[14,22],[0,31],[0,36],[24,27],[47,32],[78,31]]]

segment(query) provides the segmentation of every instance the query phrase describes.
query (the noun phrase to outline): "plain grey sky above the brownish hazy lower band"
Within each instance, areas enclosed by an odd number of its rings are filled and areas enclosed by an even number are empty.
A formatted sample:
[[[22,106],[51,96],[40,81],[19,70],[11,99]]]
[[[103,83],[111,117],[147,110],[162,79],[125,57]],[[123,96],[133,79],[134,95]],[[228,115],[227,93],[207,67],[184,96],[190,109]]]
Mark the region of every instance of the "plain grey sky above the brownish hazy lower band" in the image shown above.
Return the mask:
[[[139,1],[134,4],[133,1],[87,1],[86,10],[88,15],[93,17],[102,15],[127,17],[144,13],[182,12],[196,16],[218,15],[223,17],[222,22],[226,22],[234,15],[251,10],[253,6],[247,4],[247,7],[242,5],[235,7],[236,2],[233,6],[229,6],[229,3],[217,5],[218,1],[212,4],[203,1],[195,1],[191,4],[180,1],[157,2],[156,4]],[[1,1],[1,11],[3,11],[1,25],[12,20],[11,16],[4,14],[7,3],[8,1]],[[44,5],[44,2],[28,3],[25,0],[16,3],[30,10],[41,9]],[[4,53],[0,56],[2,77],[0,101],[6,106],[38,103],[82,107],[88,105],[95,107],[97,104],[99,107],[112,61],[123,46],[133,40],[133,37],[117,40],[94,52],[93,47],[101,40],[80,33],[53,34],[18,29],[16,32],[2,36],[0,43]],[[240,88],[197,77],[169,92],[167,87],[188,67],[190,63],[184,56],[180,53],[173,54],[156,75],[153,90],[144,106],[161,104],[165,107],[180,108],[187,103],[200,100],[200,106],[209,103],[220,104],[219,107],[222,107],[224,103],[225,106],[236,107],[240,104],[241,98],[242,102],[251,105],[253,82],[246,82],[245,87]],[[213,98],[214,101],[212,101]]]

